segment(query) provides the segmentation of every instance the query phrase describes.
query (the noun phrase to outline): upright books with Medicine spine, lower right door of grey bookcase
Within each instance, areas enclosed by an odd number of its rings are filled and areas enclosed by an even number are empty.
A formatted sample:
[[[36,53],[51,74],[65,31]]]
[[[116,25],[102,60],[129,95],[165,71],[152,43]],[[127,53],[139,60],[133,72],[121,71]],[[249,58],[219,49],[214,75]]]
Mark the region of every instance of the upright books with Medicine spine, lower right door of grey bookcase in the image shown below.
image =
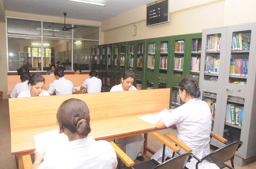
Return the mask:
[[[244,107],[236,104],[227,104],[225,122],[242,126]]]

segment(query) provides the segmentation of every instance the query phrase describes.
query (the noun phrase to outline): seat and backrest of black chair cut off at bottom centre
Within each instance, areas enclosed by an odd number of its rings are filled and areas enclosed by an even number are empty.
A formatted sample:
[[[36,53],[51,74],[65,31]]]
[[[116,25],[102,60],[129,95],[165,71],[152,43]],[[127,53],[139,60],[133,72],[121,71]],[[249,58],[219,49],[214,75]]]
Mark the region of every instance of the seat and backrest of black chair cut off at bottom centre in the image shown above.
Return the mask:
[[[127,169],[184,169],[187,162],[193,157],[191,152],[180,154],[174,158],[168,159],[161,164],[159,164],[156,160],[152,159],[140,164],[136,164],[131,167],[126,167]]]

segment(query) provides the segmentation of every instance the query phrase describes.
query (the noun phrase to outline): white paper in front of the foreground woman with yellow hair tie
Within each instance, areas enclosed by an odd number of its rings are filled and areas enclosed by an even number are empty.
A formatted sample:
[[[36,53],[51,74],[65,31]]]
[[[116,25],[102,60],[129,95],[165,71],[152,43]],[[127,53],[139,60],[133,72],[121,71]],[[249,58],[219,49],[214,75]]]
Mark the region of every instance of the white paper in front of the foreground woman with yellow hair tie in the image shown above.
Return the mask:
[[[34,136],[36,151],[43,153],[56,146],[65,146],[68,143],[68,137],[58,130],[51,130]]]

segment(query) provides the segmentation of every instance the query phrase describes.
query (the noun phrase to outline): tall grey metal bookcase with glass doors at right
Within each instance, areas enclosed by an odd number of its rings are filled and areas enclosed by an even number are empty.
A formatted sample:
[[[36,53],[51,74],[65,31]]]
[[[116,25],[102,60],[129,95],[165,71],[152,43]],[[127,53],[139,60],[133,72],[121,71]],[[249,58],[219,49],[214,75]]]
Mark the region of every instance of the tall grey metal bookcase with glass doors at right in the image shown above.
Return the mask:
[[[241,33],[250,37],[250,50],[231,50],[233,33]],[[206,51],[207,38],[211,35],[221,34],[220,51]],[[216,35],[216,36],[217,36]],[[241,140],[243,146],[236,151],[234,163],[244,166],[256,160],[256,23],[223,26],[204,29],[202,35],[202,55],[200,65],[200,99],[209,98],[216,100],[213,131],[223,136],[224,127],[228,127],[233,141]],[[219,73],[205,73],[205,60],[207,56],[219,59]],[[247,76],[230,75],[230,62],[235,59],[248,59]],[[238,60],[237,60],[238,61]],[[218,81],[209,81],[217,78]],[[245,81],[245,85],[234,84],[232,81]],[[215,93],[215,96],[205,95],[204,92]],[[228,96],[244,98],[244,102],[233,101]],[[244,107],[242,126],[225,122],[227,103]],[[224,144],[212,139],[211,144],[222,147]]]

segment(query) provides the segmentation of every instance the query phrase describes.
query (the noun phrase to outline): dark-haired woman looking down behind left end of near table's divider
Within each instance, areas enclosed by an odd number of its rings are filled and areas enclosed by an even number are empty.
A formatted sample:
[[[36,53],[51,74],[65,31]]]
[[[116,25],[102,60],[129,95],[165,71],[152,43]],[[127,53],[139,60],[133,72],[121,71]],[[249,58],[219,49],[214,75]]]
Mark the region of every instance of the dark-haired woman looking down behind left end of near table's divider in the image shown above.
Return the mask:
[[[28,90],[21,92],[18,97],[49,96],[44,88],[44,77],[41,74],[32,74],[28,80]]]

